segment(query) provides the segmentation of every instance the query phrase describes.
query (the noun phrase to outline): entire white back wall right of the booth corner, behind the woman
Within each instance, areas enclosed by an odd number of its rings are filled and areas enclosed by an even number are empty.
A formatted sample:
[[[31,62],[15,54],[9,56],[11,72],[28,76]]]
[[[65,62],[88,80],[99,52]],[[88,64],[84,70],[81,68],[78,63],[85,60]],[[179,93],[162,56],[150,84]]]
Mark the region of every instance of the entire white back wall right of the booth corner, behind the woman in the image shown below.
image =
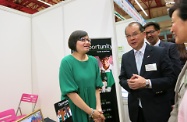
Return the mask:
[[[34,92],[39,93],[44,116],[56,119],[53,104],[60,100],[58,71],[61,59],[70,54],[69,35],[82,29],[88,32],[90,38],[111,37],[112,45],[116,47],[113,1],[72,0],[34,15],[32,27]],[[114,65],[117,67],[116,49],[113,49]],[[118,71],[114,71],[114,77],[118,81]],[[119,108],[122,114],[120,104]]]

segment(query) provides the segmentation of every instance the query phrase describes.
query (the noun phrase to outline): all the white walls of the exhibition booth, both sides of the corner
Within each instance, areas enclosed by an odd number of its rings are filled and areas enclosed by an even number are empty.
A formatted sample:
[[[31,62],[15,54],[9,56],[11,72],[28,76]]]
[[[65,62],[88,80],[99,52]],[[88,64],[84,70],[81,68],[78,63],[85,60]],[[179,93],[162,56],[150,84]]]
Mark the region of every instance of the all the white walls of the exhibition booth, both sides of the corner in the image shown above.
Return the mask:
[[[41,108],[44,117],[56,120],[54,103],[61,96],[60,62],[70,54],[70,33],[81,29],[90,38],[112,39],[119,117],[120,122],[127,122],[118,84],[117,40],[123,51],[130,47],[124,36],[126,22],[115,24],[113,0],[71,0],[33,15],[0,6],[0,16],[0,111],[17,109],[22,93],[34,93],[39,95],[36,108]],[[23,109],[31,112],[31,106]]]

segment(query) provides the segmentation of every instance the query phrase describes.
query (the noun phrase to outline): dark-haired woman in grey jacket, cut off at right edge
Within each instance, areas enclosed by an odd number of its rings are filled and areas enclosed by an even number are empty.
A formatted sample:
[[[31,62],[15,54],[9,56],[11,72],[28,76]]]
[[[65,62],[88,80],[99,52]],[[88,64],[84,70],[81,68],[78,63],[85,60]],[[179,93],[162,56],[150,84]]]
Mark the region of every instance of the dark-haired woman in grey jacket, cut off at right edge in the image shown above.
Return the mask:
[[[175,35],[175,43],[183,44],[187,42],[187,1],[182,0],[169,9],[172,19],[171,32]],[[179,74],[175,85],[175,105],[171,112],[169,122],[187,122],[187,63],[185,63]],[[184,96],[184,98],[183,98]],[[186,101],[185,101],[186,100]],[[182,101],[182,102],[181,102]]]

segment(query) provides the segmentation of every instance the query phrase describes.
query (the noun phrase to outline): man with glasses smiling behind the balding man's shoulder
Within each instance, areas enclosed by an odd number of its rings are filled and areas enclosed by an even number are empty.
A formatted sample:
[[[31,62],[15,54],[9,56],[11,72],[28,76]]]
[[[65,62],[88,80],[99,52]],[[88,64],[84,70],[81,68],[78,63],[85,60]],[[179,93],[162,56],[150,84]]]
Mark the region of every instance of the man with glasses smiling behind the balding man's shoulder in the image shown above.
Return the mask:
[[[182,65],[180,62],[179,52],[175,43],[164,42],[159,39],[160,35],[160,25],[156,22],[148,22],[144,25],[146,39],[153,46],[160,46],[166,48],[167,54],[173,65],[174,73],[176,79],[181,72]],[[170,89],[171,104],[174,105],[174,87]]]

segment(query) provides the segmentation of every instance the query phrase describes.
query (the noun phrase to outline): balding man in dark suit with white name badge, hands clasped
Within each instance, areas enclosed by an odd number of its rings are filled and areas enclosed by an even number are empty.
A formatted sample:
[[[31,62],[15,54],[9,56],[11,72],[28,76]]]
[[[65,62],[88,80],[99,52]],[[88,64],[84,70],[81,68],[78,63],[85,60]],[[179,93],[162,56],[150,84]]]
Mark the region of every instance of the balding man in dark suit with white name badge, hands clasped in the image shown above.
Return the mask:
[[[130,23],[125,34],[133,49],[122,56],[119,80],[128,91],[130,120],[167,122],[171,111],[168,89],[176,79],[166,50],[146,44],[138,22]]]

